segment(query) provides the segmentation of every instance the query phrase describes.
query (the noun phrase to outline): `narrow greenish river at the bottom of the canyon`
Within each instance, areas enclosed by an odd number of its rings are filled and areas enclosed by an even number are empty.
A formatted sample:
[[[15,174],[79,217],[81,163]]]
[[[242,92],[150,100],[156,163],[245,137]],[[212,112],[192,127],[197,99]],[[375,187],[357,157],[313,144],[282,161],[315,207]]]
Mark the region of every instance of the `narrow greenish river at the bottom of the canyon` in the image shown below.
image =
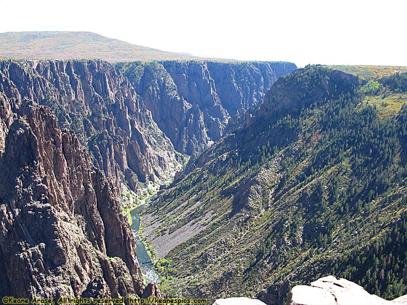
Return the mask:
[[[131,218],[133,219],[133,224],[131,229],[133,230],[134,238],[136,239],[136,255],[138,264],[141,267],[141,272],[146,278],[147,283],[151,282],[160,282],[160,276],[153,267],[150,256],[147,253],[146,247],[138,237],[138,230],[140,229],[140,211],[143,208],[144,204],[136,207],[130,212]]]

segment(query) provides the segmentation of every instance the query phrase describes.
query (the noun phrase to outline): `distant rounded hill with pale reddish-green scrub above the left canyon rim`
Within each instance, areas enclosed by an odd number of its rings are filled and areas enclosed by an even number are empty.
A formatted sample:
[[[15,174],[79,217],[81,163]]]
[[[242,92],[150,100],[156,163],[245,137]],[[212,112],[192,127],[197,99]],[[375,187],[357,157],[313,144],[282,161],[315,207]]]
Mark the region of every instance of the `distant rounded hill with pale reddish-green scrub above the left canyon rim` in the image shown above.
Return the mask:
[[[90,32],[0,33],[0,56],[11,58],[134,60],[200,60],[201,57],[133,45]],[[230,61],[230,59],[214,59]]]

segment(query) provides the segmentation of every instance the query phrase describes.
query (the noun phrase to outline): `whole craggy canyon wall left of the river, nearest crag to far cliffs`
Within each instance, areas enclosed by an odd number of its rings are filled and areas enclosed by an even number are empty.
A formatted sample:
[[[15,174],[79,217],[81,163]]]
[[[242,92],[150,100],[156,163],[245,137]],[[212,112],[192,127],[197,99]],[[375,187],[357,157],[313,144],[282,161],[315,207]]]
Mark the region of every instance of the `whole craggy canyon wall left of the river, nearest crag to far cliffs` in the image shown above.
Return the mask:
[[[185,64],[191,68],[182,73],[168,68],[176,62],[150,65],[159,66],[164,83],[147,73],[137,83],[119,64],[101,60],[0,60],[1,295],[162,297],[142,279],[121,191],[142,196],[144,186],[170,179],[182,154],[213,143],[207,129],[215,139],[222,135],[230,118],[222,103],[234,101],[220,100],[207,62]],[[266,78],[254,80],[259,70],[240,74],[248,82],[234,86],[240,111],[260,103],[276,73],[295,68],[264,65]],[[157,108],[153,92],[172,109]],[[170,116],[179,119],[161,130]]]

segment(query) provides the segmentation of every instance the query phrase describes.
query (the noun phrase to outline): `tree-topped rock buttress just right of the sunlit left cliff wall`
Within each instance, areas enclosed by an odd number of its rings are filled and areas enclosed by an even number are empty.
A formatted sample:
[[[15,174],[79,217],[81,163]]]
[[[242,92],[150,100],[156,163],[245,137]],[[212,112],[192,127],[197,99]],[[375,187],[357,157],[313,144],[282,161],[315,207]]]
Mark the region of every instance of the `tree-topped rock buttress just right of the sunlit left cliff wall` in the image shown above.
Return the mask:
[[[162,64],[126,63],[120,66],[154,120],[174,147],[183,154],[205,150],[210,139],[198,104],[188,103]]]

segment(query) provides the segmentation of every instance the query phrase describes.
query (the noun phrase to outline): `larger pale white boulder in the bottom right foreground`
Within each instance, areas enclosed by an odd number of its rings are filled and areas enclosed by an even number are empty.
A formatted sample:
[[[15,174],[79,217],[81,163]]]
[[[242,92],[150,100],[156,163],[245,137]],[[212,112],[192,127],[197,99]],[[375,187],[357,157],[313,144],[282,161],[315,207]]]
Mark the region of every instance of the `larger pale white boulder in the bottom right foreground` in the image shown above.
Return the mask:
[[[321,278],[311,286],[295,286],[286,305],[407,305],[407,295],[392,301],[369,294],[363,287],[333,276]]]

